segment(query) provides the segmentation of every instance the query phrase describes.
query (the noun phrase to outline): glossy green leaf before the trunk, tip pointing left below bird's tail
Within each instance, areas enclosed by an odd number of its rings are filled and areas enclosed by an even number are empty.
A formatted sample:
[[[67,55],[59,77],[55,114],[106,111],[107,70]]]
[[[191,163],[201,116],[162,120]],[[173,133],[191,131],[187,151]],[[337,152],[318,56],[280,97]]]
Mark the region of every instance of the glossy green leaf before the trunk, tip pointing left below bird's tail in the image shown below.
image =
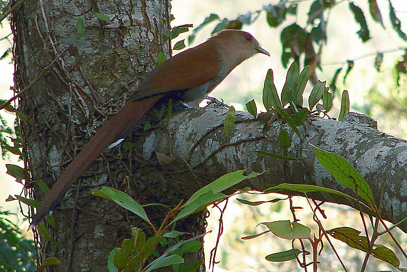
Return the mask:
[[[138,215],[142,220],[146,221],[151,226],[153,226],[153,224],[147,217],[146,211],[144,211],[143,207],[141,207],[140,204],[138,204],[126,193],[123,193],[117,189],[103,186],[102,189],[100,190],[94,190],[93,195],[116,202],[123,208],[133,212],[134,214]]]

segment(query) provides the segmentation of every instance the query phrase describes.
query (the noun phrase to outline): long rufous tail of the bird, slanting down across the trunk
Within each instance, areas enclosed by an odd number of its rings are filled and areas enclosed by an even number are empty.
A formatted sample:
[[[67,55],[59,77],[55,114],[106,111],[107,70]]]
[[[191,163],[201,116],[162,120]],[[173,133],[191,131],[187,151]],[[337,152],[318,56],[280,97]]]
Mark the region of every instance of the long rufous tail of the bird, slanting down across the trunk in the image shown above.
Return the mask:
[[[51,191],[42,201],[41,207],[33,217],[30,228],[37,226],[49,214],[65,195],[72,183],[95,161],[96,158],[114,141],[126,137],[141,117],[160,99],[156,95],[142,100],[129,100],[125,106],[101,128],[101,130],[86,144],[65,169],[61,177],[53,185]]]

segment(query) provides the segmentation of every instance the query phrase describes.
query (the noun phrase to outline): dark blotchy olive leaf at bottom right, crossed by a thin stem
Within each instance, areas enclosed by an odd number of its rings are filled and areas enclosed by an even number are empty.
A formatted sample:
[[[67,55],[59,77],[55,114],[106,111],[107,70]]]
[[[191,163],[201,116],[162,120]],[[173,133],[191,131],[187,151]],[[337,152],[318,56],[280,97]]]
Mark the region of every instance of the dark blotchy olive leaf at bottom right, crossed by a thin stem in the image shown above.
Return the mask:
[[[369,242],[366,236],[359,235],[361,232],[358,230],[349,227],[341,227],[327,230],[327,233],[335,239],[346,243],[351,248],[358,249],[366,253],[369,252]],[[374,258],[390,263],[394,267],[398,267],[400,265],[400,261],[394,252],[381,244],[374,244],[370,249],[370,253]]]

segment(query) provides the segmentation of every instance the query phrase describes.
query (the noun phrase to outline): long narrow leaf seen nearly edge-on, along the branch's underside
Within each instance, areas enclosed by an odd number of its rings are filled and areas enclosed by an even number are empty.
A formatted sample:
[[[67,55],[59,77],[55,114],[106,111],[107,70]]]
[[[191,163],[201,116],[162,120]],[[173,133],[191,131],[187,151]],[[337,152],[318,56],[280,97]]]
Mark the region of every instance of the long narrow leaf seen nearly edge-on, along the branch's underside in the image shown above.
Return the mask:
[[[288,184],[288,183],[282,183],[279,184],[277,186],[273,186],[270,187],[268,189],[265,189],[265,193],[269,193],[269,192],[274,192],[274,193],[281,193],[281,191],[292,191],[292,192],[303,192],[303,193],[309,193],[309,192],[319,192],[319,193],[328,193],[328,194],[333,194],[333,195],[337,195],[346,199],[349,199],[351,201],[354,201],[355,203],[357,203],[358,201],[349,196],[346,195],[342,192],[336,191],[334,189],[330,189],[330,188],[325,188],[325,187],[320,187],[320,186],[315,186],[315,185],[306,185],[306,184]],[[368,206],[366,206],[365,204],[361,203],[363,206],[365,206],[366,208],[370,209]]]

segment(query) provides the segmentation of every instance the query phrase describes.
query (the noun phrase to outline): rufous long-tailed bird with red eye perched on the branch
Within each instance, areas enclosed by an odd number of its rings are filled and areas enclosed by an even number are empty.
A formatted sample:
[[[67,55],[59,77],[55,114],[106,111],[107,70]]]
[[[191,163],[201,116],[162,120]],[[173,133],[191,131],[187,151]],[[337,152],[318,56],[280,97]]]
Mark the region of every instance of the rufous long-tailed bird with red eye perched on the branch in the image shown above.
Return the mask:
[[[168,95],[187,105],[197,106],[231,70],[256,53],[270,56],[249,33],[225,30],[157,66],[139,84],[124,107],[110,118],[72,160],[42,201],[30,229],[49,214],[71,184],[107,147],[113,146],[112,143],[120,143],[133,130],[160,98]]]

